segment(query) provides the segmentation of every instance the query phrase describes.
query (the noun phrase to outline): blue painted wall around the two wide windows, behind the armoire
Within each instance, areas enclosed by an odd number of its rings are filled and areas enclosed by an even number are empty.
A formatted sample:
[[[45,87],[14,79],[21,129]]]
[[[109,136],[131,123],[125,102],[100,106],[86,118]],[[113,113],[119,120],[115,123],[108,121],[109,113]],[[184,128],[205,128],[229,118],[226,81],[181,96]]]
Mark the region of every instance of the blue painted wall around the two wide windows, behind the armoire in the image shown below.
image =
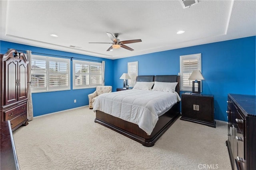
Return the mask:
[[[76,57],[80,59],[90,59],[96,61],[106,61],[105,63],[105,85],[112,86],[113,83],[113,60],[103,59],[100,57],[92,57],[88,55],[80,55],[76,53],[68,53],[64,51],[57,51],[34,47],[29,45],[22,45],[18,43],[10,43],[7,41],[0,41],[0,53],[6,53],[8,49],[13,48],[17,50],[31,50],[32,52],[45,53],[51,55],[61,55],[67,57]],[[54,57],[54,56],[52,56]],[[42,92],[32,93],[34,116],[53,113],[56,111],[71,109],[89,104],[88,94],[95,91],[95,88],[87,88],[80,90],[72,90],[72,61],[70,61],[71,68],[71,90],[57,91],[57,92]],[[76,99],[76,103],[74,103]]]

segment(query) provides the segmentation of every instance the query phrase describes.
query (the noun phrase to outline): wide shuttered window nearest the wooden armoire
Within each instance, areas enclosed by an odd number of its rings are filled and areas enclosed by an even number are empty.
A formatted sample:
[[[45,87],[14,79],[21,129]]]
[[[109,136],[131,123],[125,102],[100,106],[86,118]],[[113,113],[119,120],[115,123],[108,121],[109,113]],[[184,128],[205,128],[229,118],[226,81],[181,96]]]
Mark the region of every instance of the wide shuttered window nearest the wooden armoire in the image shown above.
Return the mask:
[[[32,55],[31,91],[70,90],[70,59]]]

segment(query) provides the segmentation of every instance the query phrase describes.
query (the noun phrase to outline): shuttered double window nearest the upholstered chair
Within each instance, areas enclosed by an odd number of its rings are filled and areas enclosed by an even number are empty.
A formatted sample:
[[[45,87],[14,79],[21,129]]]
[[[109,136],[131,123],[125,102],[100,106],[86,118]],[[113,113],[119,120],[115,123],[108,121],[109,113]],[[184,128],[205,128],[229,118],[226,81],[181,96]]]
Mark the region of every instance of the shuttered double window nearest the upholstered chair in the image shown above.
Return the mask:
[[[73,60],[73,89],[102,86],[102,64]]]

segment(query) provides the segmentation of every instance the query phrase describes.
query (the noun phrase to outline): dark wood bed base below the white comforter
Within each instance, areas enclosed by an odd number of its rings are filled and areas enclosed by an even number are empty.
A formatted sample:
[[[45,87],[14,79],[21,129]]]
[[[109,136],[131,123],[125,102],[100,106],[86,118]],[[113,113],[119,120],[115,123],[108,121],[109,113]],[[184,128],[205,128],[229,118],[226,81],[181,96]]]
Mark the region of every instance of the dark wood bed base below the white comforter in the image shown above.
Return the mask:
[[[114,117],[102,111],[96,111],[94,122],[100,123],[126,137],[129,137],[146,147],[152,147],[156,141],[169,129],[169,127],[180,117],[180,102],[176,103],[164,115],[160,116],[151,135],[140,129],[138,125]]]

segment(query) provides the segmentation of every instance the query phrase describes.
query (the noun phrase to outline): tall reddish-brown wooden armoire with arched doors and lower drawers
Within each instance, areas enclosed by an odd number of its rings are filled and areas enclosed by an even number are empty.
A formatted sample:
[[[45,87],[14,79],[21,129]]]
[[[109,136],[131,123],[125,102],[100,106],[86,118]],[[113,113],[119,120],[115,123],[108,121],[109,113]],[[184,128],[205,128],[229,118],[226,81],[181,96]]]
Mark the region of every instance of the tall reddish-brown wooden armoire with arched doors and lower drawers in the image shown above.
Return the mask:
[[[27,64],[24,53],[15,49],[0,55],[0,121],[10,120],[12,131],[28,124]]]

